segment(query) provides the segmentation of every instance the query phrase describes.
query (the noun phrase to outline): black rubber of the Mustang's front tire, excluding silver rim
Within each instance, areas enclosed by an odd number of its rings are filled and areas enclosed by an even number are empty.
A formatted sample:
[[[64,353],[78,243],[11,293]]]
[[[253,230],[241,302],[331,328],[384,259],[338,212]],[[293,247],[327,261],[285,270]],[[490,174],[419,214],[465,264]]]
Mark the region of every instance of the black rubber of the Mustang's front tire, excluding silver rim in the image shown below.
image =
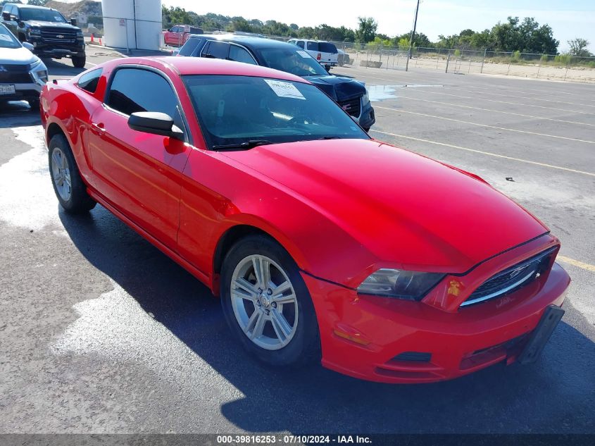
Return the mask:
[[[251,342],[239,327],[231,302],[231,279],[237,264],[247,256],[261,254],[283,268],[296,292],[299,318],[296,333],[288,345],[277,350],[267,350]],[[245,237],[235,244],[225,256],[221,274],[220,298],[227,325],[234,336],[252,357],[272,366],[303,365],[320,360],[318,321],[310,292],[303,282],[295,261],[280,244],[264,235]]]

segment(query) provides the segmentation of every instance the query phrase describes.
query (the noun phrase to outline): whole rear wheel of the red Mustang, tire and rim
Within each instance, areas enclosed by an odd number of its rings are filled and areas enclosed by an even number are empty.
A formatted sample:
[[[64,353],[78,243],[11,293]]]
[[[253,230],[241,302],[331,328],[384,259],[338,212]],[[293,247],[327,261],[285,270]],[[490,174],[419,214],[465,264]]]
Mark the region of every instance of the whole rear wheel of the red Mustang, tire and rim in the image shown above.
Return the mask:
[[[54,135],[49,142],[49,173],[58,202],[68,213],[86,213],[96,202],[87,194],[80,178],[73,151],[64,135]]]

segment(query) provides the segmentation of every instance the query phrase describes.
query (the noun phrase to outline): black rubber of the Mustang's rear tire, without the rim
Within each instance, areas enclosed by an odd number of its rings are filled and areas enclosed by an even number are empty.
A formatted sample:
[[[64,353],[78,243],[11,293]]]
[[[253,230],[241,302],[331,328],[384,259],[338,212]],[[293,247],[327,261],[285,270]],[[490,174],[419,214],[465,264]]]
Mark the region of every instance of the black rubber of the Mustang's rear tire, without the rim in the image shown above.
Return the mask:
[[[58,193],[56,188],[56,182],[54,181],[54,170],[51,168],[51,157],[54,154],[55,149],[60,149],[68,162],[68,171],[70,173],[70,198],[64,200]],[[48,162],[49,162],[49,175],[51,178],[51,185],[54,187],[56,192],[56,198],[63,207],[63,209],[69,213],[84,213],[94,208],[95,202],[87,194],[87,186],[84,185],[82,178],[75,161],[73,151],[70,149],[68,141],[64,135],[54,135],[48,144]]]

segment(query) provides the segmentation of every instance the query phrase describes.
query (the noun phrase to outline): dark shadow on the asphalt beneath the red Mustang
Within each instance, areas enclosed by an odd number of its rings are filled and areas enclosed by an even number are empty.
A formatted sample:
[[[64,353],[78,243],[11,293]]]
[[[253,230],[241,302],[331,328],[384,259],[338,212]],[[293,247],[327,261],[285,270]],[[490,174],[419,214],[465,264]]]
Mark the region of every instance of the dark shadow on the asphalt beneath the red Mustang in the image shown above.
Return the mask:
[[[291,433],[595,432],[590,416],[594,345],[565,322],[536,364],[499,364],[444,383],[369,383],[319,365],[272,369],[250,359],[232,339],[218,299],[207,287],[106,209],[96,206],[88,216],[58,212],[71,240],[95,268],[245,395],[220,408],[239,428]],[[565,309],[567,316],[582,317],[568,303]]]

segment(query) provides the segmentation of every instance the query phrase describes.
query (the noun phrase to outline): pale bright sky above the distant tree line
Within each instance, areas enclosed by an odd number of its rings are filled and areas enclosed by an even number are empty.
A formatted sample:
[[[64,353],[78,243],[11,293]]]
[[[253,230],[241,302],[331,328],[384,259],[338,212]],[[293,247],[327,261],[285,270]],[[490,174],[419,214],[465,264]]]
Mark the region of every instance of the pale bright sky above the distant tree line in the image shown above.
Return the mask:
[[[315,26],[357,27],[358,16],[370,16],[378,30],[389,36],[411,31],[416,0],[309,1],[225,0],[163,0],[165,6],[180,6],[197,14],[218,13],[247,19],[277,20]],[[471,28],[475,31],[491,28],[508,16],[534,17],[540,25],[548,23],[553,36],[560,41],[558,51],[568,49],[566,41],[582,37],[591,42],[595,53],[595,0],[421,0],[418,32],[432,42],[438,35],[458,34]]]

